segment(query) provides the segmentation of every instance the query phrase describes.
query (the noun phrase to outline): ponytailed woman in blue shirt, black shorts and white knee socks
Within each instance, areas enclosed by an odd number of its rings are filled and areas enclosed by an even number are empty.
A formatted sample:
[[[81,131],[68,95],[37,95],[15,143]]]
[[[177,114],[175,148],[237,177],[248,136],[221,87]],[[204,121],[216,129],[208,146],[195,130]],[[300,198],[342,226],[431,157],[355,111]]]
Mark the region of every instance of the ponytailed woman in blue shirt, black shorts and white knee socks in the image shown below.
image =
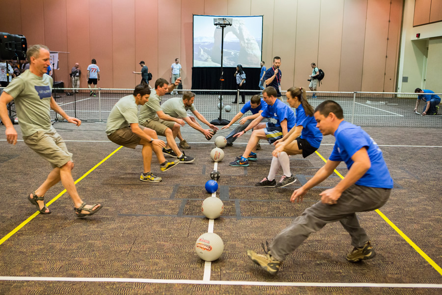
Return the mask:
[[[316,127],[314,109],[307,101],[305,89],[291,87],[287,90],[286,96],[290,107],[296,109],[296,125],[274,143],[276,148],[273,151],[269,175],[256,183],[256,186],[284,187],[295,182],[296,178],[290,172],[288,155],[302,154],[305,158],[321,144],[322,134]],[[284,174],[276,183],[275,176],[279,167],[282,167]]]

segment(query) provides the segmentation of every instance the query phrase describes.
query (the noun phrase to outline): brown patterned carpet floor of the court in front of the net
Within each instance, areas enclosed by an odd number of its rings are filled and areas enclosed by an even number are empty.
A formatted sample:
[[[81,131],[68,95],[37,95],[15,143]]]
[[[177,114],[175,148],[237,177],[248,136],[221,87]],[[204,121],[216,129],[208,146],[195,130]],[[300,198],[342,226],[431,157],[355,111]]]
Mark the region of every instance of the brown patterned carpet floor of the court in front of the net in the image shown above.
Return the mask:
[[[16,125],[17,127],[17,125]],[[105,124],[84,123],[76,127],[55,123],[74,154],[74,179],[78,179],[118,148],[108,142]],[[440,171],[441,129],[364,128],[381,146],[395,188],[380,210],[434,262],[442,266],[442,217]],[[17,128],[18,130],[18,128]],[[19,132],[19,138],[20,131]],[[209,221],[201,202],[209,196],[205,182],[213,170],[213,140],[183,128],[196,157],[160,173],[157,158],[152,170],[160,183],[139,181],[141,148],[121,148],[77,184],[83,200],[104,208],[90,218],[78,219],[68,194],[50,206],[50,215],[37,215],[0,245],[0,276],[69,278],[140,278],[202,280],[204,262],[194,252],[196,238],[207,232]],[[216,136],[227,135],[219,131]],[[216,137],[215,136],[215,137]],[[316,154],[291,157],[297,181],[285,188],[259,188],[254,183],[267,176],[272,146],[261,144],[258,161],[247,168],[228,163],[242,154],[247,136],[224,148],[218,163],[221,178],[217,196],[224,203],[214,233],[221,236],[224,252],[212,263],[212,281],[329,283],[328,287],[229,286],[178,283],[0,281],[0,294],[435,294],[430,288],[342,287],[334,283],[442,284],[435,270],[376,212],[359,214],[360,223],[372,237],[377,257],[359,264],[348,263],[350,237],[338,224],[327,225],[311,235],[288,257],[279,273],[271,277],[246,256],[247,249],[260,251],[261,242],[284,229],[318,194],[340,178],[332,175],[312,189],[303,203],[288,200],[324,164]],[[50,166],[23,141],[10,146],[0,126],[0,238],[35,212],[27,194],[46,178]],[[94,141],[94,142],[91,142]],[[196,143],[195,143],[196,142]],[[318,152],[327,158],[334,138],[323,140]],[[439,146],[439,147],[398,147]],[[338,172],[345,176],[341,164]],[[277,176],[279,177],[279,176]],[[46,195],[48,202],[63,190],[61,183]],[[439,289],[440,290],[440,289]]]

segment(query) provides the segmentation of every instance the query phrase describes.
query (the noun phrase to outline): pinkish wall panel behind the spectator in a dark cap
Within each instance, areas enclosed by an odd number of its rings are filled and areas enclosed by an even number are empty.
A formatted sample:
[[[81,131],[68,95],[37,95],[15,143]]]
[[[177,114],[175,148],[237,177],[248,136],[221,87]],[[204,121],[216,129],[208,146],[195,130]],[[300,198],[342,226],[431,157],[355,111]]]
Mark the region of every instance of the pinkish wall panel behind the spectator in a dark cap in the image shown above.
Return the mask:
[[[136,85],[141,81],[141,75],[132,71],[141,71],[141,60],[152,73],[152,87],[158,78],[158,13],[154,11],[158,11],[158,1],[135,0],[135,60],[129,60],[129,68]]]

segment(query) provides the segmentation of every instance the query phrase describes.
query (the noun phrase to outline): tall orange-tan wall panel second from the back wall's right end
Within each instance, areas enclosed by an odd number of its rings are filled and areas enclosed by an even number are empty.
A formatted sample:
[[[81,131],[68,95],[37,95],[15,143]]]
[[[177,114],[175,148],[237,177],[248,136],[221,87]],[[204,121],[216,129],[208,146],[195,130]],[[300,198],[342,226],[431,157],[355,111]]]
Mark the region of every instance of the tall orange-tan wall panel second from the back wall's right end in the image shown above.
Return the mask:
[[[389,11],[389,1],[368,1],[362,91],[384,90]]]

